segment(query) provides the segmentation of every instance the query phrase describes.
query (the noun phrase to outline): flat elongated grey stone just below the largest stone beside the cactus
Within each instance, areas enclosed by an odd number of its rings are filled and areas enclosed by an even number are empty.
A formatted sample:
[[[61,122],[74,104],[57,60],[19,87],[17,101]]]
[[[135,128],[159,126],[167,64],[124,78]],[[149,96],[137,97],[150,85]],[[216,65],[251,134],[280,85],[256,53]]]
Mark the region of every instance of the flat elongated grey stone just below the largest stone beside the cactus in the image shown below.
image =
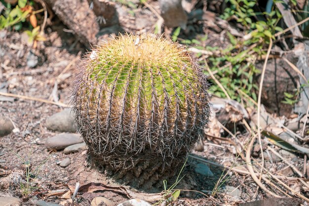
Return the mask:
[[[62,150],[70,145],[82,142],[79,134],[63,133],[50,137],[45,141],[45,146],[49,150]]]

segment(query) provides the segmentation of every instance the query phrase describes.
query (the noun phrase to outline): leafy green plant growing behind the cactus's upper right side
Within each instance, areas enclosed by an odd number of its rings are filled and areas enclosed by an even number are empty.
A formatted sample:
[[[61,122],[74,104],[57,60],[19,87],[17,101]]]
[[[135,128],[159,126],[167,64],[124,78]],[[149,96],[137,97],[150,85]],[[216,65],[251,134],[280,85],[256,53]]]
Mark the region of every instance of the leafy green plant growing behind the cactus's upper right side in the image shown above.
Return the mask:
[[[221,17],[240,23],[245,36],[235,38],[227,32],[230,44],[225,48],[206,47],[207,50],[217,51],[206,61],[210,71],[226,92],[215,82],[210,90],[219,97],[226,97],[227,93],[232,99],[241,101],[243,95],[248,95],[256,101],[258,86],[254,78],[260,71],[255,67],[255,62],[266,53],[264,48],[269,44],[270,38],[274,39],[274,34],[282,31],[276,26],[281,14],[275,8],[270,13],[255,12],[253,7],[257,4],[256,0],[228,0],[228,2],[231,6],[226,8]],[[265,20],[257,20],[257,16],[262,16]],[[205,74],[209,75],[209,72],[205,71]]]

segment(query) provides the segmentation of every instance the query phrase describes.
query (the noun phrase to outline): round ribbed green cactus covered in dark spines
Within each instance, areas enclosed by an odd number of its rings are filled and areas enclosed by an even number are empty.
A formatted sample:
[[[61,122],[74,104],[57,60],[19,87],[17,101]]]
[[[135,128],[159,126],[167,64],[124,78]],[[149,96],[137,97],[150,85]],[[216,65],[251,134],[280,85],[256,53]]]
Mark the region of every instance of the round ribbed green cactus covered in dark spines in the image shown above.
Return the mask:
[[[186,49],[124,35],[83,61],[73,102],[92,159],[140,184],[183,165],[209,116],[206,78]]]

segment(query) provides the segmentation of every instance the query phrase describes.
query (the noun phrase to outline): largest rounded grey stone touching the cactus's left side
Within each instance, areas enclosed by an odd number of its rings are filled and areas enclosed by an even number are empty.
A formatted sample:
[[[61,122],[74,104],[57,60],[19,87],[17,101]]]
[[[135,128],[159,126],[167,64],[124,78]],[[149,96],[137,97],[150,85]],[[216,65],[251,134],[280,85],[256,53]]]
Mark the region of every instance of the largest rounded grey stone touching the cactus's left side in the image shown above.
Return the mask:
[[[62,112],[58,112],[50,116],[46,120],[46,127],[52,131],[60,132],[77,132],[74,125],[75,115],[71,111],[71,108],[64,109]]]

